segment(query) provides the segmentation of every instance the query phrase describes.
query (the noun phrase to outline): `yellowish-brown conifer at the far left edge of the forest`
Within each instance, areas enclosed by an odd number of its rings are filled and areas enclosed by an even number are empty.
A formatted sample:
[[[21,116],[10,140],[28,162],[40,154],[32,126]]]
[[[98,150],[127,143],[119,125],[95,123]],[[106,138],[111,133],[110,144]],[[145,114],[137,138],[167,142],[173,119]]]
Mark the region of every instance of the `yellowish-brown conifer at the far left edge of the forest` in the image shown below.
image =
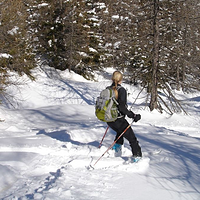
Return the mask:
[[[0,14],[0,92],[9,82],[9,71],[19,75],[27,74],[30,78],[34,65],[34,54],[30,44],[28,7],[22,0],[1,2]]]

